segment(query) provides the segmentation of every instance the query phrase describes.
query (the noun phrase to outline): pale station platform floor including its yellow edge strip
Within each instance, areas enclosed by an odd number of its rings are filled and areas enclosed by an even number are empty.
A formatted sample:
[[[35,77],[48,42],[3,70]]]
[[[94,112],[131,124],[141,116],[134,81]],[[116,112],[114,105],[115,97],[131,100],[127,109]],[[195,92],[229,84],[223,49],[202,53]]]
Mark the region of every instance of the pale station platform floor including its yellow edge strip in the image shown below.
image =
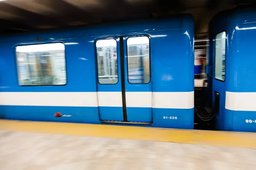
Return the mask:
[[[0,170],[255,170],[256,133],[0,120]]]

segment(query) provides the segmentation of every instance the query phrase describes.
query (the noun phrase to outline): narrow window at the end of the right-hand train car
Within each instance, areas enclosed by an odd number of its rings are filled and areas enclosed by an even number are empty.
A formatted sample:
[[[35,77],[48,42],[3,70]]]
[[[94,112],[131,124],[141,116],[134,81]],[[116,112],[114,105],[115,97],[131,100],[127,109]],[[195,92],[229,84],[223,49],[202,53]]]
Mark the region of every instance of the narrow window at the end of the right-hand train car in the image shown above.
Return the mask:
[[[226,62],[226,32],[221,32],[215,38],[215,79],[225,80]]]

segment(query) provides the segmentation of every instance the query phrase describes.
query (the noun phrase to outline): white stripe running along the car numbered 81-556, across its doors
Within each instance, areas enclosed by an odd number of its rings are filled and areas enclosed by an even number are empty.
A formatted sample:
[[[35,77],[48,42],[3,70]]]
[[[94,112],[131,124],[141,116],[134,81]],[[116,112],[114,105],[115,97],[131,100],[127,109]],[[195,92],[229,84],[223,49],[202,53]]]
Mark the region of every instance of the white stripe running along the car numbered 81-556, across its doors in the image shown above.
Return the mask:
[[[127,107],[194,108],[194,91],[125,92]],[[121,92],[0,92],[0,105],[122,107]]]

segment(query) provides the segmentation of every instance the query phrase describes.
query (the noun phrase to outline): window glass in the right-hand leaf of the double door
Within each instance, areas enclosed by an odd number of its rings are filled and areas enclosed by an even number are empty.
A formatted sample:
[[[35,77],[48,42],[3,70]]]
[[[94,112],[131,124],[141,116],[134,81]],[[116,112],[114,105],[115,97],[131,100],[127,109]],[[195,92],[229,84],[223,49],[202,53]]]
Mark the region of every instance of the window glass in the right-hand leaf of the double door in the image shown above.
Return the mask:
[[[128,82],[147,84],[150,82],[149,38],[127,39]]]

